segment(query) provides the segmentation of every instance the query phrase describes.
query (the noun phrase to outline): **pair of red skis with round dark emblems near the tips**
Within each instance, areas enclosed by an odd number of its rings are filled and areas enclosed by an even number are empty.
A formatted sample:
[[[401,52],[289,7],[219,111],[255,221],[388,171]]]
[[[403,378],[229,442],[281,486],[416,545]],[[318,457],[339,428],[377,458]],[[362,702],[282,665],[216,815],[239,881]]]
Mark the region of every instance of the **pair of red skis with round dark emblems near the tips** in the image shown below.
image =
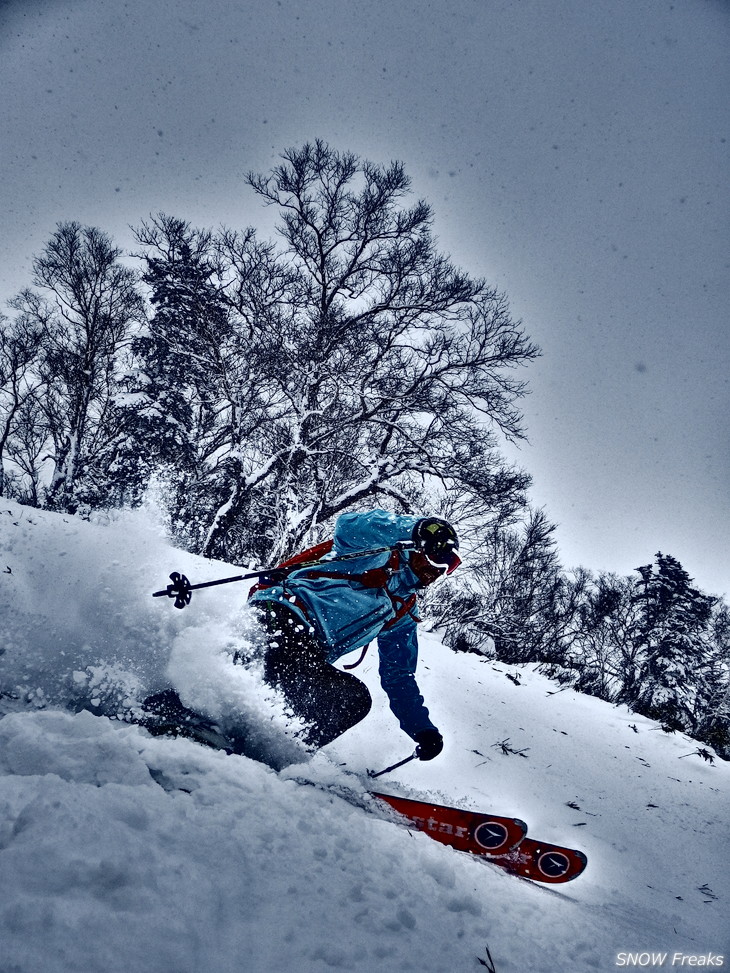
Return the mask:
[[[527,825],[518,818],[464,811],[390,794],[373,794],[373,797],[385,801],[435,841],[457,851],[480,855],[511,874],[534,882],[569,882],[588,863],[582,851],[526,838]]]

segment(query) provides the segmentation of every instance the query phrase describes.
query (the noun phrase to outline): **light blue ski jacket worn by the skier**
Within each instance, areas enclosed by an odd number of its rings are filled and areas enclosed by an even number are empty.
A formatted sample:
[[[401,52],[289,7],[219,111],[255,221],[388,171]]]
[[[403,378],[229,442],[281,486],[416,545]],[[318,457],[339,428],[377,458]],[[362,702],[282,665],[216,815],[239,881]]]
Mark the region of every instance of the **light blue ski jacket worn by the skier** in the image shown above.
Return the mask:
[[[410,554],[401,551],[391,556],[386,551],[352,560],[337,558],[373,548],[394,548],[399,541],[410,540],[418,519],[385,510],[342,514],[335,526],[332,553],[324,563],[294,570],[284,582],[251,595],[252,602],[287,603],[327,647],[329,662],[377,639],[380,682],[401,728],[413,738],[421,730],[435,727],[415,678],[419,619],[415,601],[409,610],[406,603],[413,599],[420,582],[409,567]],[[387,566],[392,573],[382,587],[358,580],[366,571]]]

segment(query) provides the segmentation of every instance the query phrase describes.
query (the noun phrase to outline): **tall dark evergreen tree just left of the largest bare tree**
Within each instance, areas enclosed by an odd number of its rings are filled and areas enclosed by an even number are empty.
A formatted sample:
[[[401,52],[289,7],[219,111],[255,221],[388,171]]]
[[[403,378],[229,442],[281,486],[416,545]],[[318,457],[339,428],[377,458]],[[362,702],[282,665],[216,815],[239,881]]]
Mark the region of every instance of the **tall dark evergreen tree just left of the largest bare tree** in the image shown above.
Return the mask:
[[[211,235],[161,214],[137,231],[149,249],[143,281],[152,315],[125,377],[126,489],[164,482],[173,533],[195,547],[197,503],[215,452],[217,365],[226,316],[217,299]]]

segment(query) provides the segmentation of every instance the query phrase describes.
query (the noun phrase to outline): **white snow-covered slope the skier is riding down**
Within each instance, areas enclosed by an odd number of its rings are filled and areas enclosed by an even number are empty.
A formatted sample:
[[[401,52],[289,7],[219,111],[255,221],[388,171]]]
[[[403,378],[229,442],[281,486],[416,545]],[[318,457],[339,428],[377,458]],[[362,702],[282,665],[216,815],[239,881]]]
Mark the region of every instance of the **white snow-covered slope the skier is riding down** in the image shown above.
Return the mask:
[[[367,803],[366,769],[412,750],[375,652],[372,713],[307,758],[255,663],[231,664],[253,645],[245,587],[178,611],[150,597],[174,569],[239,573],[171,549],[149,514],[0,505],[0,973],[450,973],[484,970],[487,945],[498,973],[730,968],[728,764],[424,634],[446,748],[378,787],[588,854],[572,884],[521,881],[303,783]],[[170,682],[277,769],[117,718]]]

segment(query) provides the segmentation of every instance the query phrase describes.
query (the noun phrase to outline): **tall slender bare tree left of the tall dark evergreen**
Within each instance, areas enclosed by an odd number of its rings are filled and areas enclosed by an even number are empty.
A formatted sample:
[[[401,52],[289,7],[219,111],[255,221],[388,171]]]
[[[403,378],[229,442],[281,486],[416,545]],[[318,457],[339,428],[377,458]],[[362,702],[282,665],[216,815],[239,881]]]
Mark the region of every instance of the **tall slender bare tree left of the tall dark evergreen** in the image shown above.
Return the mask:
[[[101,230],[61,223],[33,263],[36,289],[12,302],[42,335],[53,464],[46,504],[56,509],[99,499],[112,462],[120,359],[144,314],[136,276],[120,257]]]

